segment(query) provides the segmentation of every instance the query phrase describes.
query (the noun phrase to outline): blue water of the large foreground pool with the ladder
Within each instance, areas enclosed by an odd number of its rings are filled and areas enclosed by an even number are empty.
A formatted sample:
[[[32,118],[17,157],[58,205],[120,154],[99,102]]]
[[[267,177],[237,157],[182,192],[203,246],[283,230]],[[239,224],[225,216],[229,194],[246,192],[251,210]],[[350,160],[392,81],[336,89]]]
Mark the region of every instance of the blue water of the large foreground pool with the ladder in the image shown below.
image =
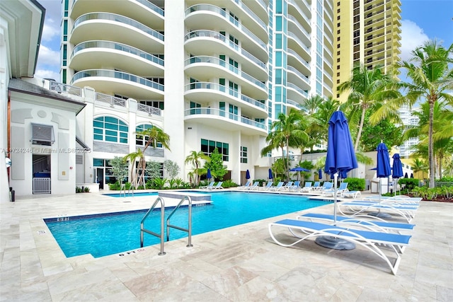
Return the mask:
[[[322,200],[289,194],[245,192],[209,192],[212,204],[192,207],[192,234],[228,228],[242,223],[310,209],[326,204]],[[150,203],[151,207],[151,203]],[[165,221],[173,209],[166,209]],[[113,214],[45,219],[47,227],[57,240],[64,255],[74,257],[91,254],[93,257],[113,255],[140,248],[140,221],[147,209]],[[171,224],[188,228],[188,208],[181,207],[171,218]],[[160,233],[160,210],[153,211],[144,225]],[[170,240],[185,238],[188,234],[171,228]],[[193,243],[196,240],[193,238]],[[144,245],[160,243],[159,238],[144,234]]]

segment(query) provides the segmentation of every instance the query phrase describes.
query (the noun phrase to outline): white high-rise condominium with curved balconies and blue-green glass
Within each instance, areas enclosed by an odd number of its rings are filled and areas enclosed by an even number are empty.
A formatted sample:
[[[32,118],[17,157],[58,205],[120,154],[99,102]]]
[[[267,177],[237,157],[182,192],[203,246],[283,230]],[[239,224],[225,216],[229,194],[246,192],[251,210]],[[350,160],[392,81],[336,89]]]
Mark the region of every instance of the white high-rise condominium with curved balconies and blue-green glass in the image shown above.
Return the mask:
[[[149,148],[147,160],[176,162],[180,178],[191,151],[216,147],[226,179],[267,178],[260,150],[271,122],[310,95],[333,95],[331,1],[63,0],[62,9],[62,82],[82,88],[76,136],[91,149],[77,182],[111,182],[108,160],[142,148],[136,132],[149,127],[169,135],[171,151]]]

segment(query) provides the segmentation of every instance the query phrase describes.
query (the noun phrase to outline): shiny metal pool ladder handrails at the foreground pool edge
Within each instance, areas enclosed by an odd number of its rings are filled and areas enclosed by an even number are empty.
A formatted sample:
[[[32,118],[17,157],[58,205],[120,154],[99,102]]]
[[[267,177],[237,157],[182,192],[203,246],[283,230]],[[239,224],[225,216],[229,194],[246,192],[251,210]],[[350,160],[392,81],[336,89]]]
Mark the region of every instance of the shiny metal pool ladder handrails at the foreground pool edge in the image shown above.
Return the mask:
[[[180,205],[183,204],[183,202],[185,200],[188,201],[188,208],[189,208],[188,228],[182,228],[180,226],[173,226],[172,224],[170,224],[170,218],[171,218],[171,216],[173,216],[175,211],[179,209]],[[147,219],[147,217],[149,216],[151,211],[154,210],[154,208],[156,207],[158,202],[161,203],[161,233],[160,234],[155,233],[153,231],[150,231],[150,230],[147,230],[146,228],[144,228],[144,221]],[[166,254],[166,252],[164,251],[164,217],[165,217],[165,202],[164,202],[164,198],[157,197],[156,201],[154,202],[154,204],[151,206],[151,208],[149,208],[149,210],[147,211],[147,214],[144,215],[144,217],[142,218],[142,221],[140,222],[140,247],[143,248],[144,233],[149,233],[150,235],[156,236],[156,237],[161,239],[161,251],[159,252],[158,255],[165,255]],[[188,245],[186,245],[186,246],[188,248],[193,247],[193,245],[192,245],[192,199],[189,196],[183,197],[183,199],[180,200],[180,202],[175,207],[175,209],[173,209],[173,211],[171,211],[170,215],[168,215],[168,218],[167,218],[167,241],[170,240],[170,228],[176,228],[176,229],[178,229],[180,231],[188,232],[188,238],[189,238],[188,240],[189,240],[189,242],[188,242]]]

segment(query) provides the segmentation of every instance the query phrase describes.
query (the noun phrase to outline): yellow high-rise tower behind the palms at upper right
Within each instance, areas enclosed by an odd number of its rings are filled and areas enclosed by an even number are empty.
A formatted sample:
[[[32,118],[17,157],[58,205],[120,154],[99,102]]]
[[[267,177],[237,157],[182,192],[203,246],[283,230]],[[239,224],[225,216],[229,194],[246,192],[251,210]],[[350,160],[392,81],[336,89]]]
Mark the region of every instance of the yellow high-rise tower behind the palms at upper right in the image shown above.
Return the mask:
[[[398,61],[401,1],[334,0],[333,6],[334,95],[345,100],[348,95],[338,94],[336,87],[350,79],[355,64],[364,64],[368,69],[380,65],[387,73]]]

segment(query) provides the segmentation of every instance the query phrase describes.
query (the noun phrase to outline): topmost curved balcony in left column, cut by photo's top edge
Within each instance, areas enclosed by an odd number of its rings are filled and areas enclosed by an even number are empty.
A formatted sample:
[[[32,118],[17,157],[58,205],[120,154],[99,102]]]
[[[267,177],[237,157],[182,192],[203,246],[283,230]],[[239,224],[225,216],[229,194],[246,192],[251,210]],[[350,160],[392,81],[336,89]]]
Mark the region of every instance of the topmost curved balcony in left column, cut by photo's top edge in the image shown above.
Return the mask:
[[[148,0],[74,0],[71,8],[71,18],[75,20],[84,13],[93,11],[116,13],[133,18],[150,28],[164,28],[164,10]]]

